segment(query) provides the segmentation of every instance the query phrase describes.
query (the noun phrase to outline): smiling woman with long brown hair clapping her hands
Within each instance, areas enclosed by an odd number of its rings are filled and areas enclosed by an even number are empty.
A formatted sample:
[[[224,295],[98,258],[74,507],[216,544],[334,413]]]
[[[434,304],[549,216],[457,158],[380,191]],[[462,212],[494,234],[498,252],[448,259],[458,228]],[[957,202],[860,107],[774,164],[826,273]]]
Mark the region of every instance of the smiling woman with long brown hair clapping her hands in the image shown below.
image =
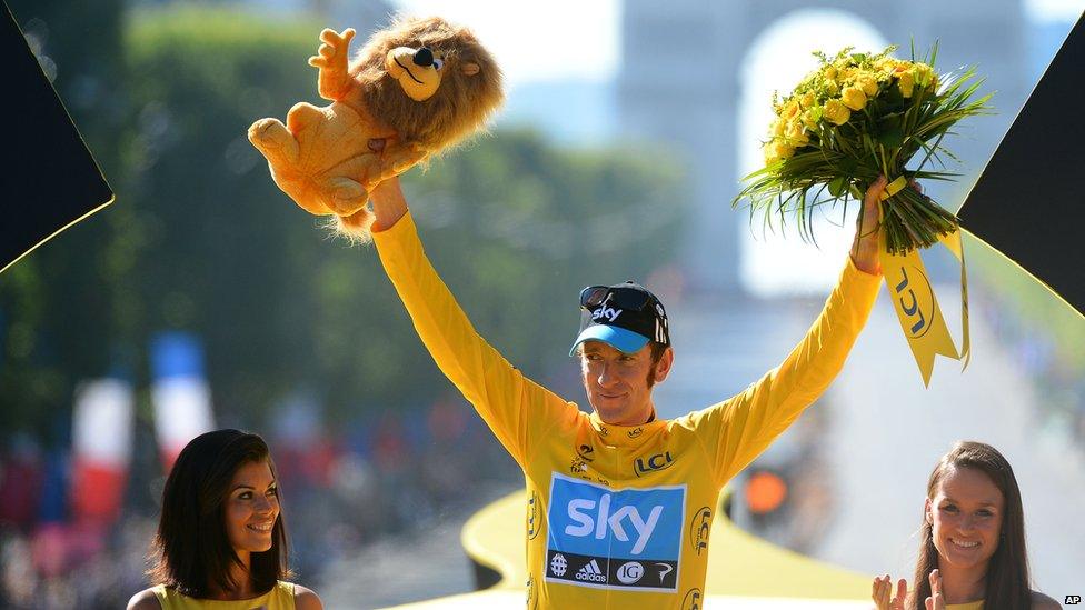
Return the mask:
[[[915,589],[874,579],[878,610],[1058,610],[1029,589],[1025,516],[1009,462],[994,447],[959,441],[927,482]]]

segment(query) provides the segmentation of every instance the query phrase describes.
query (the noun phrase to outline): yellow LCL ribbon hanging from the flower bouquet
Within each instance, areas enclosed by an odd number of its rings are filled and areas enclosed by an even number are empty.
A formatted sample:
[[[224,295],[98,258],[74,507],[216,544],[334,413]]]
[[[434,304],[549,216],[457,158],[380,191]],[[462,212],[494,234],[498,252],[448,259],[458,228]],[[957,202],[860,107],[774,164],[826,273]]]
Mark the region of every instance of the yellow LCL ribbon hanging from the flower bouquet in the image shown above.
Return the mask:
[[[889,182],[882,192],[882,200],[885,201],[893,197],[905,186],[907,186],[907,180],[903,176]],[[954,231],[938,239],[938,242],[953,252],[960,263],[960,326],[963,337],[959,352],[949,337],[949,328],[942,316],[942,308],[938,307],[934,287],[930,284],[923,259],[919,258],[919,250],[912,250],[907,254],[890,254],[885,250],[884,233],[879,237],[878,242],[878,256],[882,262],[882,274],[885,277],[885,287],[889,292],[889,298],[893,299],[893,308],[900,321],[900,329],[908,340],[916,364],[919,366],[923,384],[925,387],[930,386],[935,354],[940,353],[954,360],[960,360],[963,362],[962,370],[967,368],[972,354],[972,342],[968,333],[968,278],[965,270],[964,249],[960,244],[960,231]]]

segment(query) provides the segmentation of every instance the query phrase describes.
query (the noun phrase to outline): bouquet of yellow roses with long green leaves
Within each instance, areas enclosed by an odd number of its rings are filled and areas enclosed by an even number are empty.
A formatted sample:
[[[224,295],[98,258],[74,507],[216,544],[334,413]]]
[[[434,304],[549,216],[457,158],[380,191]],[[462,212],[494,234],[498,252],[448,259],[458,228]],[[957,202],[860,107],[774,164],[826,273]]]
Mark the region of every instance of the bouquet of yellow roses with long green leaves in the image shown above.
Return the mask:
[[[899,60],[896,47],[880,53],[844,49],[835,57],[815,53],[819,67],[790,94],[773,98],[776,118],[764,144],[765,167],[747,176],[735,198],[748,199],[750,213],[798,219],[799,232],[813,238],[814,211],[822,204],[849,199],[884,174],[890,180],[883,203],[886,250],[903,254],[926,248],[957,229],[957,218],[913,188],[914,179],[952,179],[954,173],[925,171],[934,159],[956,159],[942,139],[965,117],[989,112],[989,94],[973,100],[982,83],[974,69],[960,74],[934,70],[937,47],[929,59]],[[906,166],[923,151],[915,170]],[[885,194],[883,196],[885,198]],[[860,212],[862,213],[862,208]]]

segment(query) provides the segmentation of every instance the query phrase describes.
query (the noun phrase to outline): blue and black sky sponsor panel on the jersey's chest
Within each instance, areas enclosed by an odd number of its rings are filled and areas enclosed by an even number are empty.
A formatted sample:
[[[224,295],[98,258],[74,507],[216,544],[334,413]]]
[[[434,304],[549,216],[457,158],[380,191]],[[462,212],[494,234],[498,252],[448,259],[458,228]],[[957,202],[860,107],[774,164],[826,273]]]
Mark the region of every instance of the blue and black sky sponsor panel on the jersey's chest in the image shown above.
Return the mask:
[[[554,472],[546,579],[579,587],[675,591],[685,509],[686,486],[614,490]],[[559,570],[554,569],[555,558],[560,558]]]

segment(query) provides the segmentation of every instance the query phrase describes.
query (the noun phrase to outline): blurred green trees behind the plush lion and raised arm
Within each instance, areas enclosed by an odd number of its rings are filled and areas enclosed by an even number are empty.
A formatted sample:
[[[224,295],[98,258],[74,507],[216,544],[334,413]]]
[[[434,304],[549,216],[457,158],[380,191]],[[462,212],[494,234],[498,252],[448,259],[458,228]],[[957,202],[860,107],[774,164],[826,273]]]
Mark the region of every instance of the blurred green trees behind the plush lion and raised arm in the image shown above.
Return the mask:
[[[103,373],[118,344],[146,387],[148,339],[168,329],[202,338],[216,410],[253,426],[298,388],[340,417],[447,391],[376,252],[329,240],[246,140],[257,118],[325,103],[305,63],[319,26],[207,6],[113,18],[56,57],[60,73],[122,23],[117,68],[94,77],[112,101],[73,112],[117,202],[0,281],[0,400],[27,406],[3,423],[67,412],[73,383]],[[405,188],[479,330],[545,378],[565,366],[583,286],[644,280],[673,260],[681,177],[657,157],[501,132],[411,171]]]

